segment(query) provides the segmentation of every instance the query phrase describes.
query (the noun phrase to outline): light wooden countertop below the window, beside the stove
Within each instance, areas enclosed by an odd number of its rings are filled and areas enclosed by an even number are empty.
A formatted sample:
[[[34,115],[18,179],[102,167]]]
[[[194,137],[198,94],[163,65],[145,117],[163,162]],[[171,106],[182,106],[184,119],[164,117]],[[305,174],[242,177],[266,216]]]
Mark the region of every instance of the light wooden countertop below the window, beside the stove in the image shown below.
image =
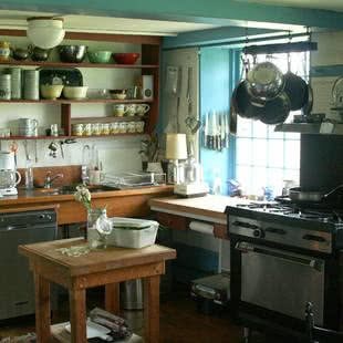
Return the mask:
[[[241,198],[214,195],[206,195],[205,197],[198,198],[179,198],[173,196],[150,199],[149,206],[155,211],[227,224],[226,207],[246,201],[246,199]]]

